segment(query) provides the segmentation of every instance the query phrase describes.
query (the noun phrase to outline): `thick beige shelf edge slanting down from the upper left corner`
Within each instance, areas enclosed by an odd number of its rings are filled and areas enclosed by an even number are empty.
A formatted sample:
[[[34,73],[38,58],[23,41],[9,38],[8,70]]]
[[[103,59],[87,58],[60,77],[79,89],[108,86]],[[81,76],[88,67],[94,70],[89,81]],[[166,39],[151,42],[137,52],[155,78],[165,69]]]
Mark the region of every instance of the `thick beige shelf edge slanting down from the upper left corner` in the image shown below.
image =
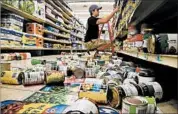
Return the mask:
[[[6,10],[9,10],[9,11],[11,11],[11,12],[13,12],[13,13],[16,13],[16,14],[18,14],[18,15],[24,17],[25,19],[30,19],[30,20],[33,20],[33,21],[36,21],[36,22],[39,22],[39,23],[44,23],[44,22],[45,22],[43,19],[38,18],[38,17],[33,16],[33,15],[30,15],[30,14],[28,14],[28,13],[26,13],[26,12],[23,12],[23,11],[21,11],[20,9],[17,9],[17,8],[15,8],[15,7],[13,7],[13,6],[4,4],[4,3],[2,3],[2,2],[0,2],[0,4],[1,4],[1,7],[2,7],[2,8],[6,9]]]

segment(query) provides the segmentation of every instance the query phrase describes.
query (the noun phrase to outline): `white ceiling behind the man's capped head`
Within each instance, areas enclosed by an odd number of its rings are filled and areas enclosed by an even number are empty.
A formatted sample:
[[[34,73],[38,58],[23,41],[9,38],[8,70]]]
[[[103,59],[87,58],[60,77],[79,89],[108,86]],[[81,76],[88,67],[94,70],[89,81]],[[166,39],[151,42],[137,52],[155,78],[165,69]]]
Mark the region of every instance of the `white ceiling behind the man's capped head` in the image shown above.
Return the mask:
[[[76,2],[76,3],[68,3],[69,7],[73,10],[73,13],[76,15],[76,17],[79,18],[79,20],[84,25],[86,25],[87,19],[88,19],[88,17],[90,17],[88,9],[89,9],[90,5],[92,5],[92,4],[102,6],[102,10],[100,10],[100,16],[99,17],[103,17],[105,15],[108,15],[113,10],[114,2]]]

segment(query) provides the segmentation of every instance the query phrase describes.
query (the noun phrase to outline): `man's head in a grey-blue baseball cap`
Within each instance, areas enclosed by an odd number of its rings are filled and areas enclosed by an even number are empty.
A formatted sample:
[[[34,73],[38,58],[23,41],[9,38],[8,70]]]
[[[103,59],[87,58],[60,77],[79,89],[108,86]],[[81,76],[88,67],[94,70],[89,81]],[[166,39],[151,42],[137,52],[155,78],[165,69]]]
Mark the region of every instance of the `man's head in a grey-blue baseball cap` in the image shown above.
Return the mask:
[[[99,10],[101,10],[102,7],[99,7],[98,5],[91,5],[89,8],[89,12],[91,16],[98,17],[99,16]]]

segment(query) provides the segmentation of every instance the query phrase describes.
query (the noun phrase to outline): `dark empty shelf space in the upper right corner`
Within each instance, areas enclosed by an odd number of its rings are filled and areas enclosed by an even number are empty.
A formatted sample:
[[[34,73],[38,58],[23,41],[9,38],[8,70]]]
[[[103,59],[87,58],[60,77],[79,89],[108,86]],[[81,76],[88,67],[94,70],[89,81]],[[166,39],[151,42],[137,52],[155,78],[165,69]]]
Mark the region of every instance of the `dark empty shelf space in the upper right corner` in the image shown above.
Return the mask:
[[[177,0],[142,0],[131,22],[153,26],[155,33],[177,33]]]

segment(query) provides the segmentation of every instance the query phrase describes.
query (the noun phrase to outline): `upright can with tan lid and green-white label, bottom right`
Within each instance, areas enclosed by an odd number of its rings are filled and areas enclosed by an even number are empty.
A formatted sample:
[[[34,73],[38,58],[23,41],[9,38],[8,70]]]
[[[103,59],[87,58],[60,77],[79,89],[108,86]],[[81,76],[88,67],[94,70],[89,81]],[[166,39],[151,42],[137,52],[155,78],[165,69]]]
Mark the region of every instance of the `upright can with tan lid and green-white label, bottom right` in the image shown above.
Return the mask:
[[[148,101],[144,97],[126,97],[122,102],[122,114],[146,114]]]

